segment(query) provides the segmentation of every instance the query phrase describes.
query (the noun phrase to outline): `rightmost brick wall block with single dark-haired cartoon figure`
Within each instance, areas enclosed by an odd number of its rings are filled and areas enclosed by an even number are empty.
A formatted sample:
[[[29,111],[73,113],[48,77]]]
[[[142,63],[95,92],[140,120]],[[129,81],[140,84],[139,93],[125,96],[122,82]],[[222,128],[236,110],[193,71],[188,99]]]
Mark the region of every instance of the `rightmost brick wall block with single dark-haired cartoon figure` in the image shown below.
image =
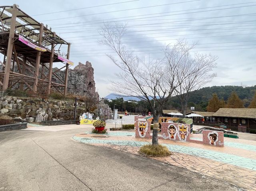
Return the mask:
[[[224,132],[203,130],[203,144],[224,147]]]

